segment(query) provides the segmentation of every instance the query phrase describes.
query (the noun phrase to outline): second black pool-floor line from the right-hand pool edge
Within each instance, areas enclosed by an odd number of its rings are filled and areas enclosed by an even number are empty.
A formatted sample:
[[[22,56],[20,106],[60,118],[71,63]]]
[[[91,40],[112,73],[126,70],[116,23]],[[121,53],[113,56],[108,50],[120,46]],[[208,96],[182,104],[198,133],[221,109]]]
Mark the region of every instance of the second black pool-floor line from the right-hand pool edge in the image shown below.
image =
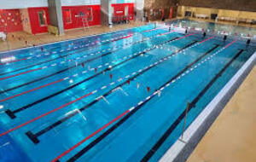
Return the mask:
[[[167,84],[170,84],[173,80],[180,77],[183,74],[183,72],[186,72],[190,67],[195,65],[203,57],[209,55],[214,49],[217,49],[218,46],[219,46],[218,44],[215,45],[212,49],[208,50],[204,55],[201,55],[195,61],[191,62],[188,66],[184,67],[183,70],[181,70],[180,72],[177,72],[177,74],[175,76],[173,76],[165,84],[161,85],[159,89],[155,90],[155,92],[161,90],[162,88],[166,87]],[[106,130],[101,136],[98,136],[93,142],[90,142],[90,144],[88,144],[85,148],[83,148],[81,151],[79,151],[79,153],[76,153],[75,155],[73,155],[73,157],[68,159],[67,162],[73,162],[73,161],[79,159],[84,153],[88,152],[90,150],[90,148],[93,148],[97,143],[101,142],[106,136],[111,134],[113,132],[113,130],[116,130],[121,124],[124,124],[127,119],[129,119],[133,114],[135,114],[139,109],[141,109],[143,107],[143,105],[145,105],[148,101],[150,101],[156,95],[157,95],[157,93],[150,95],[150,98],[148,100],[143,101],[142,104],[138,105],[136,108],[133,108],[130,113],[125,115],[125,117],[123,119],[119,120],[119,122],[117,122],[116,124],[113,124],[113,126],[111,128]]]

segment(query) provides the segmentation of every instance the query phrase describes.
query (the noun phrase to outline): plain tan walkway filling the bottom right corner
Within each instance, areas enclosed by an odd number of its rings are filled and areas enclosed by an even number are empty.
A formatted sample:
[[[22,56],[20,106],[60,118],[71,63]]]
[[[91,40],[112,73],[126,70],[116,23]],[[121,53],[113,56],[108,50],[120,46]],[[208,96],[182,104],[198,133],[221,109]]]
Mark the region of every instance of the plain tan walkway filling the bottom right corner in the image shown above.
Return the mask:
[[[187,162],[256,161],[256,67],[224,107]]]

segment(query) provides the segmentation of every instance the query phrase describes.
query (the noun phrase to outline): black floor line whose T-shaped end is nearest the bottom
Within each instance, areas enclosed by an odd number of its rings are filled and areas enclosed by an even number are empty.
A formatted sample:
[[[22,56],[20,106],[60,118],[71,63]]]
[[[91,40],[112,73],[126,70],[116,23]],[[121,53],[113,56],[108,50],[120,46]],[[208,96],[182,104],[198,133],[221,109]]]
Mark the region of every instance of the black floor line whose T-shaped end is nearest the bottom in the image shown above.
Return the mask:
[[[195,41],[196,42],[196,41]],[[194,42],[194,43],[195,43]],[[189,45],[191,45],[193,43],[190,43]],[[186,47],[188,47],[189,45],[187,45]],[[173,53],[171,55],[167,55],[164,58],[168,57],[171,58],[173,55],[177,55],[178,53],[183,53],[184,50],[186,50],[186,47],[184,47],[183,49],[180,49],[179,52],[177,53]],[[164,59],[162,58],[162,59]],[[160,60],[162,60],[160,59]],[[157,66],[158,64],[160,64],[160,61],[156,61],[157,63],[154,64],[153,67]],[[85,105],[84,107],[79,108],[80,112],[83,112],[85,109],[90,108],[92,105],[96,104],[96,102],[102,100],[103,97],[107,97],[108,95],[112,94],[114,91],[118,90],[119,88],[121,88],[122,86],[124,86],[125,84],[129,84],[130,81],[136,79],[138,76],[142,75],[144,72],[147,72],[148,70],[150,70],[153,67],[144,67],[143,68],[143,72],[137,72],[134,73],[133,76],[131,76],[131,78],[127,78],[123,83],[116,85],[112,90],[108,90],[108,92],[106,92],[104,95],[101,95],[99,97],[96,97],[96,99],[94,101],[90,101],[89,104]],[[120,81],[122,81],[123,78],[120,78]],[[119,81],[119,80],[118,80]],[[128,83],[129,81],[129,83]],[[65,122],[67,119],[71,119],[74,115],[78,114],[78,112],[73,112],[68,114],[65,118],[59,119],[57,120],[54,124],[50,124],[49,126],[47,126],[46,128],[44,128],[43,130],[39,130],[37,133],[32,133],[32,131],[27,131],[26,135],[32,140],[32,142],[34,142],[35,144],[37,144],[39,142],[38,140],[38,136],[42,136],[44,133],[46,133],[49,130],[54,129],[56,126],[58,126],[59,124]]]

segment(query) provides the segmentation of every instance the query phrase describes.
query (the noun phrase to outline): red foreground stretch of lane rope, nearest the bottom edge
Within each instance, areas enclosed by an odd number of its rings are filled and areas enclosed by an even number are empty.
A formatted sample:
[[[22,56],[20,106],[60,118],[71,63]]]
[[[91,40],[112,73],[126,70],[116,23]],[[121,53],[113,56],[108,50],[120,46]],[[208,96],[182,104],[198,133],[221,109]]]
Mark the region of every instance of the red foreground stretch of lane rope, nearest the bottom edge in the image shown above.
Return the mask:
[[[69,148],[67,151],[65,151],[64,153],[61,153],[61,155],[59,155],[57,158],[51,160],[51,162],[55,162],[58,159],[61,159],[63,156],[65,156],[67,153],[71,152],[73,149],[78,148],[82,143],[86,142],[87,140],[89,140],[91,137],[96,136],[97,133],[99,133],[100,131],[104,130],[105,128],[107,128],[110,124],[113,124],[115,121],[117,121],[118,119],[122,118],[123,116],[125,116],[125,114],[130,113],[130,110],[125,111],[125,113],[120,114],[117,118],[111,120],[108,124],[105,124],[104,126],[102,126],[102,128],[100,128],[99,130],[96,130],[94,133],[90,134],[90,136],[87,136],[86,138],[84,138],[84,140],[78,142],[77,144],[75,144],[72,148]]]

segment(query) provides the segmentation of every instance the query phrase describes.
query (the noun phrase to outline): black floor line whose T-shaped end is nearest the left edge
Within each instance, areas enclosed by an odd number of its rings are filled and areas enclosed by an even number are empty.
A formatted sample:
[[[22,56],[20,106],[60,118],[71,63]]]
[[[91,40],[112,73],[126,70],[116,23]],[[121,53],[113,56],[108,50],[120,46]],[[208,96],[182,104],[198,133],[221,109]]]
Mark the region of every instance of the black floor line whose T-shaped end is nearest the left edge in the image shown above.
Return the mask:
[[[176,40],[176,39],[177,39],[177,38],[172,38],[171,40],[166,41],[166,42],[161,43],[161,44],[170,43],[170,42],[172,42],[172,41],[174,41],[174,40]],[[147,51],[150,51],[150,50],[152,50],[152,49],[155,49],[155,47],[153,47],[153,48],[148,48]],[[115,65],[113,65],[113,66],[109,66],[108,68],[102,70],[102,72],[98,72],[98,73],[96,73],[96,74],[90,76],[89,78],[85,78],[84,80],[80,81],[80,82],[77,83],[77,84],[73,84],[73,85],[67,87],[67,88],[64,89],[64,90],[57,91],[57,92],[55,92],[55,93],[52,94],[52,95],[45,96],[44,98],[39,99],[38,101],[34,101],[34,102],[32,102],[32,103],[30,103],[30,104],[24,106],[24,107],[20,107],[20,108],[16,109],[15,111],[11,111],[11,110],[7,109],[7,110],[5,110],[5,113],[7,113],[11,119],[15,119],[15,113],[18,113],[18,112],[20,112],[20,111],[22,111],[22,110],[25,110],[25,109],[27,109],[27,108],[29,108],[29,107],[32,107],[33,105],[38,104],[38,103],[40,103],[40,102],[42,102],[42,101],[48,100],[49,98],[51,98],[51,97],[53,97],[53,96],[55,96],[55,95],[59,95],[59,94],[61,94],[61,93],[64,92],[64,91],[73,89],[74,87],[78,86],[79,84],[83,84],[84,82],[90,80],[91,78],[95,78],[96,76],[98,76],[98,75],[100,75],[100,74],[102,74],[102,73],[104,73],[104,72],[108,72],[109,70],[113,69],[114,67],[118,67],[118,66],[122,65],[123,63],[125,63],[126,61],[130,61],[130,60],[132,60],[132,59],[134,59],[134,58],[136,58],[136,57],[138,57],[139,55],[142,55],[142,54],[144,54],[144,53],[145,53],[145,52],[141,52],[141,53],[138,53],[137,55],[133,55],[133,56],[130,57],[129,59],[127,59],[127,60],[125,60],[125,61],[121,61],[121,62],[119,62],[118,64],[115,64]],[[94,71],[95,69],[91,69],[91,70]],[[73,77],[73,76],[72,76],[72,77]],[[71,78],[71,77],[67,77],[67,78]]]

